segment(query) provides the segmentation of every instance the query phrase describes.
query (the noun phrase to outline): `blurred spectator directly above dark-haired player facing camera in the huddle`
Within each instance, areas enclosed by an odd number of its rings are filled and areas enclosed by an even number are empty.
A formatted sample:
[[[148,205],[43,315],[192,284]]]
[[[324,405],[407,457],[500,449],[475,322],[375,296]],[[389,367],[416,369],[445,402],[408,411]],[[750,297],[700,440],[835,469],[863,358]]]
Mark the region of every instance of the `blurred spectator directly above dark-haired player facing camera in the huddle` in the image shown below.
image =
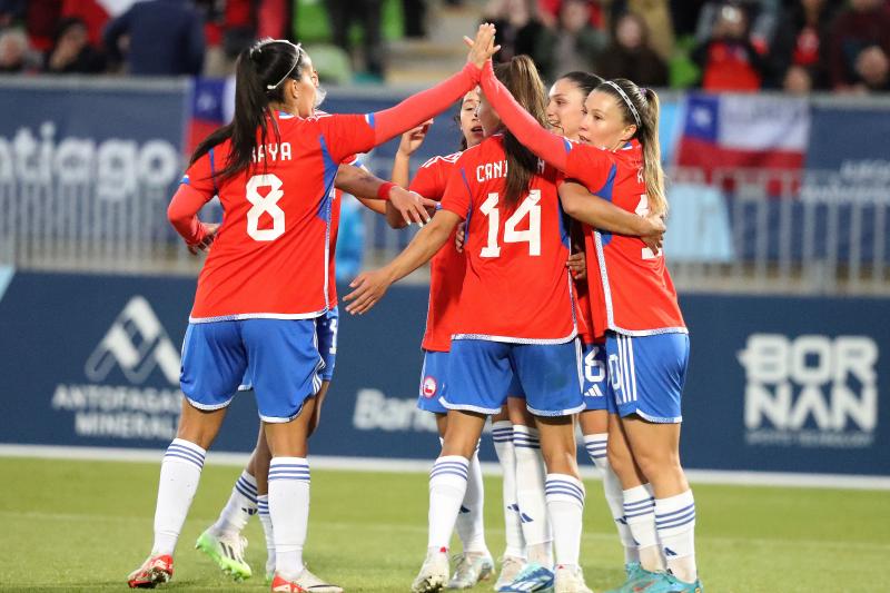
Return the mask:
[[[551,80],[555,80],[564,71],[593,70],[600,53],[606,45],[603,31],[591,26],[591,2],[587,0],[566,0],[560,8],[556,38],[548,46],[552,55],[542,60],[547,62],[546,70]],[[543,50],[547,48],[542,48]]]

